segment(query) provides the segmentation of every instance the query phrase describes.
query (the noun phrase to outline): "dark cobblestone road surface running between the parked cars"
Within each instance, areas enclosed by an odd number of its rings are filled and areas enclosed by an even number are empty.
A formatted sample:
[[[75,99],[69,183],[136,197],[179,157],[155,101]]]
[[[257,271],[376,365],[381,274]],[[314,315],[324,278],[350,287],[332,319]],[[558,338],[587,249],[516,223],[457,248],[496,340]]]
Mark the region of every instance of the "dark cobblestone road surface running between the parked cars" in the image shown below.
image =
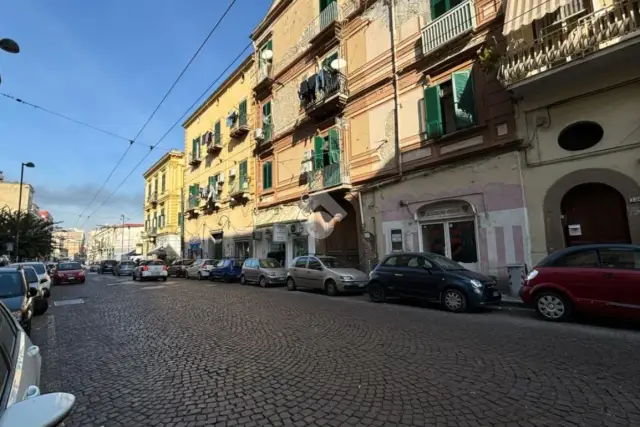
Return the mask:
[[[67,426],[640,425],[636,331],[178,279],[52,294],[33,339]]]

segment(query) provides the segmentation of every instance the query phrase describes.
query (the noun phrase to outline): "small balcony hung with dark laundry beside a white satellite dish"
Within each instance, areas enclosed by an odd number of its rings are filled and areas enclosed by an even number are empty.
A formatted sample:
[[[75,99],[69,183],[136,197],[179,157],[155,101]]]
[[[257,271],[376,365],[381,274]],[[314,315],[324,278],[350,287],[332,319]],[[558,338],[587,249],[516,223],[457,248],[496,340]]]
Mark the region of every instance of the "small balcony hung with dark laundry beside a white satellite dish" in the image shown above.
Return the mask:
[[[349,89],[347,77],[344,74],[325,72],[322,84],[320,84],[321,79],[315,74],[310,79],[316,79],[316,90],[301,101],[302,108],[309,117],[323,119],[336,114],[347,105]]]

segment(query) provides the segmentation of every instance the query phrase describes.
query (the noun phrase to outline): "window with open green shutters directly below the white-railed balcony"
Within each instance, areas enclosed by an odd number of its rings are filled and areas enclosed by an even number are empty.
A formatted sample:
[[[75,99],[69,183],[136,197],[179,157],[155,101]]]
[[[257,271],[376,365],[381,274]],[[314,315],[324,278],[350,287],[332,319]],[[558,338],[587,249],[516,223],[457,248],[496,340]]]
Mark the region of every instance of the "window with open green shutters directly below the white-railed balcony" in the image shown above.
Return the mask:
[[[476,99],[471,70],[458,71],[451,80],[424,90],[427,136],[442,135],[476,124]]]

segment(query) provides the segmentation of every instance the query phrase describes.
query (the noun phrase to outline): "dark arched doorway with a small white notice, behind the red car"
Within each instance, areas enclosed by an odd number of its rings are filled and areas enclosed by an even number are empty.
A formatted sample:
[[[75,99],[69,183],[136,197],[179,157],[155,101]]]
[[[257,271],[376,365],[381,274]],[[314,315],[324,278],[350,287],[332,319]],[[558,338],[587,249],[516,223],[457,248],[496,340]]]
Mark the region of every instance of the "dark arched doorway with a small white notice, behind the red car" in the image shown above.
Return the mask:
[[[566,246],[589,243],[631,243],[627,207],[613,187],[580,184],[560,202]]]

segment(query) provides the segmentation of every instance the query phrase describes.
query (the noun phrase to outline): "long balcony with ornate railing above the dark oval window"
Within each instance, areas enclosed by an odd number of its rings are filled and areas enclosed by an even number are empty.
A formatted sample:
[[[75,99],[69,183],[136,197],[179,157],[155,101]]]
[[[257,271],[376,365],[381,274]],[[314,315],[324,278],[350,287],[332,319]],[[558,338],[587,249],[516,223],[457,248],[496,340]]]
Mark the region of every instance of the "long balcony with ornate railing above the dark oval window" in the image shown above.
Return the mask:
[[[629,51],[640,46],[640,0],[614,3],[578,19],[567,16],[546,30],[538,31],[531,41],[511,40],[498,74],[503,84],[516,85],[538,74],[548,76],[556,69],[596,58],[602,69],[629,66],[628,60],[640,55],[638,49]],[[618,45],[615,54],[612,49],[612,54],[596,55],[614,45]],[[586,72],[580,68],[574,72]]]

